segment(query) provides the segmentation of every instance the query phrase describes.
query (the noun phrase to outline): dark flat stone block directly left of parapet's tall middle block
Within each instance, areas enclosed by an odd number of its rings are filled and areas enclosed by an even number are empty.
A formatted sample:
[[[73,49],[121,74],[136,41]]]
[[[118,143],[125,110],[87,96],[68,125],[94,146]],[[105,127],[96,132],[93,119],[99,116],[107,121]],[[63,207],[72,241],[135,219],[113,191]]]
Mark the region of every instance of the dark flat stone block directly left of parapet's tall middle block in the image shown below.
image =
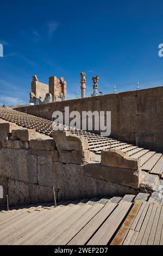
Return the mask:
[[[31,139],[29,148],[41,150],[54,150],[55,142],[53,139]]]

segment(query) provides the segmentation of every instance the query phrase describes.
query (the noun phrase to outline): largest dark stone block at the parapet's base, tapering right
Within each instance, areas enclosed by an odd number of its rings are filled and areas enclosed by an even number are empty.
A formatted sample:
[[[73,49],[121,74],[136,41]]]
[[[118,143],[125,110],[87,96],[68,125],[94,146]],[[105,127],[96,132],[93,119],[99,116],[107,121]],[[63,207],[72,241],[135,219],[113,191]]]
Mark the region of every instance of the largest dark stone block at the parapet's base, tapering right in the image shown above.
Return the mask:
[[[53,184],[55,188],[59,189],[59,200],[102,197],[106,194],[113,196],[115,194],[136,193],[134,188],[102,180],[102,177],[97,179],[96,176],[87,175],[85,167],[80,164],[54,162]],[[99,166],[95,170],[95,173],[98,172]]]

